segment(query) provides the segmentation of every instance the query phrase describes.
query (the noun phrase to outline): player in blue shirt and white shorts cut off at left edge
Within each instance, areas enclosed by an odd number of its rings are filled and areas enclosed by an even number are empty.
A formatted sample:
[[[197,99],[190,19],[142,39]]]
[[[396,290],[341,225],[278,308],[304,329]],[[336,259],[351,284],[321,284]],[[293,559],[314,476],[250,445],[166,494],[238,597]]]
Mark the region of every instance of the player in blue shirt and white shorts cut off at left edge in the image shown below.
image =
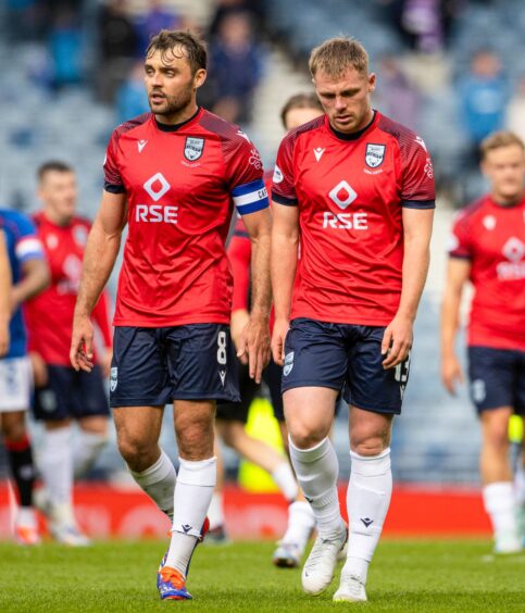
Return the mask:
[[[0,425],[20,504],[15,536],[23,545],[36,545],[39,536],[33,509],[35,467],[25,424],[30,402],[30,365],[21,305],[46,287],[49,272],[35,227],[25,215],[0,210],[0,234],[5,239],[13,282],[9,292],[9,349],[5,352],[3,346],[0,356]]]

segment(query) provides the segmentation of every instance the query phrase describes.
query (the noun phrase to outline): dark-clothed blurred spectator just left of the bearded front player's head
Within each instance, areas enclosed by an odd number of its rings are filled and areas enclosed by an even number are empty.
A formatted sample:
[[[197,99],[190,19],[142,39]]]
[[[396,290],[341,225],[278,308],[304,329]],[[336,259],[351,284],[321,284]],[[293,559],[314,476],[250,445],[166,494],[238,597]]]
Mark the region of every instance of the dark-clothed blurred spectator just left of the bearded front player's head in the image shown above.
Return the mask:
[[[99,27],[101,65],[97,89],[99,98],[111,103],[138,53],[138,37],[127,14],[126,0],[112,0],[102,7]]]

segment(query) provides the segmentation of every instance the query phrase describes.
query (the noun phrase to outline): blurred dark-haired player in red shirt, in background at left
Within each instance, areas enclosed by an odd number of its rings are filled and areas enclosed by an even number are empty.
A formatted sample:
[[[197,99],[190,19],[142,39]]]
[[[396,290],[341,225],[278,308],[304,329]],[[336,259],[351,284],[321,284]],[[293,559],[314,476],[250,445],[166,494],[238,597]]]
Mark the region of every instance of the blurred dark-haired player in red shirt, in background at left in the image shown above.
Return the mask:
[[[103,377],[109,376],[111,333],[108,297],[93,310],[105,351],[91,375],[70,362],[73,311],[90,224],[75,214],[77,186],[67,164],[50,161],[38,171],[42,210],[34,215],[51,270],[51,286],[26,304],[29,356],[35,378],[34,413],[45,424],[38,453],[43,488],[37,505],[49,518],[51,535],[71,546],[88,545],[73,513],[73,479],[92,466],[108,438],[109,404]],[[71,422],[78,431],[72,438]]]

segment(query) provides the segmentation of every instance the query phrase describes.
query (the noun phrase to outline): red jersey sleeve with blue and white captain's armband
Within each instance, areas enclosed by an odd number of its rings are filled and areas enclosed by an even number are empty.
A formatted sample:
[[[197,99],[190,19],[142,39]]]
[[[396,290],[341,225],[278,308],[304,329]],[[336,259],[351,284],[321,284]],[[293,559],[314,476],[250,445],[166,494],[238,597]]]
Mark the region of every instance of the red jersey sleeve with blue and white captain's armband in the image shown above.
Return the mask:
[[[225,157],[228,187],[237,212],[247,215],[267,209],[268,195],[257,147],[239,130],[232,145],[225,148]]]

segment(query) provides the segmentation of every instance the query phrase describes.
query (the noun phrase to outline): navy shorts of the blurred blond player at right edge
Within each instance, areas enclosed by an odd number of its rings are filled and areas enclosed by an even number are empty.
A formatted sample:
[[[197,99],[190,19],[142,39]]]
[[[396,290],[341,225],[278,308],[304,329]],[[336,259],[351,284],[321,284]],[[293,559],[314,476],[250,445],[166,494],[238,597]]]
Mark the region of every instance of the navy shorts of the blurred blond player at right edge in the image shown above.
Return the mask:
[[[468,379],[478,413],[512,406],[525,414],[525,351],[468,347]]]

